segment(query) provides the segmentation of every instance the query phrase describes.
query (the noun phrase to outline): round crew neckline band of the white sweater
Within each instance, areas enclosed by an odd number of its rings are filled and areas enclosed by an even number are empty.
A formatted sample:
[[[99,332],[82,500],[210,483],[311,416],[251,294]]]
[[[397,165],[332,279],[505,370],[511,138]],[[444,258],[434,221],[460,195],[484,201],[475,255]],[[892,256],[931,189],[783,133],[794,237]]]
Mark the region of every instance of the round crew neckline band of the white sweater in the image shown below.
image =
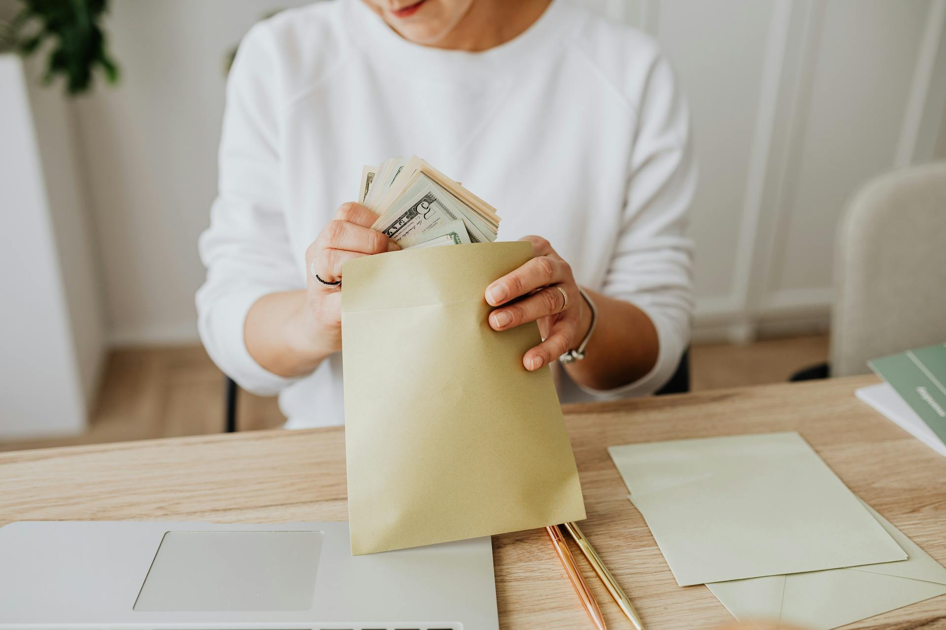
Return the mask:
[[[558,35],[568,24],[564,0],[552,0],[535,22],[512,40],[479,52],[448,50],[412,43],[398,35],[363,0],[344,0],[345,21],[356,42],[373,59],[384,59],[402,68],[417,68],[430,75],[460,78],[458,74],[499,77],[513,66],[527,63],[542,43]],[[377,57],[376,57],[377,55]]]

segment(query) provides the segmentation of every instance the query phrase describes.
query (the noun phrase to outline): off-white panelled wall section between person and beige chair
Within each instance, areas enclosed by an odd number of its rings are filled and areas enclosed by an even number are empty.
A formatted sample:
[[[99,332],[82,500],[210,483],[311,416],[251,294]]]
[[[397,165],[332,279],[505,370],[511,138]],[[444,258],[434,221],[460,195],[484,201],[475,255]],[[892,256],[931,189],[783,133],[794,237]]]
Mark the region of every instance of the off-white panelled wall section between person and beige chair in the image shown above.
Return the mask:
[[[690,95],[697,337],[824,329],[845,200],[946,160],[946,2],[589,2],[654,34]]]

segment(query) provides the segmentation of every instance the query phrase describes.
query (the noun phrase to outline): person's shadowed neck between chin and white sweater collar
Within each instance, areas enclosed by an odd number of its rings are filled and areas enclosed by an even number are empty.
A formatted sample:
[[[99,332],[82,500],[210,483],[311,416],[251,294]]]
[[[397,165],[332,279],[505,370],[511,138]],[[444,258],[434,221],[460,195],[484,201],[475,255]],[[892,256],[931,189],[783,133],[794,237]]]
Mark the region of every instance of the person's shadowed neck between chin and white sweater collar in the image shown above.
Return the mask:
[[[509,42],[542,16],[552,0],[476,0],[434,48],[480,52]]]

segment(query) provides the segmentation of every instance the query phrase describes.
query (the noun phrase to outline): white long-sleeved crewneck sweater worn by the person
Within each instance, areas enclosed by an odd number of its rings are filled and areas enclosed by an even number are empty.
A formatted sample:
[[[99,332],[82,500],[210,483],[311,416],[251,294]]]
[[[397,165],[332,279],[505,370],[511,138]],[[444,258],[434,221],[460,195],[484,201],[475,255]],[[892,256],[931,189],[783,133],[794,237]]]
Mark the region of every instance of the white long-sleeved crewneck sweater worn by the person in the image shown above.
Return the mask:
[[[611,392],[560,379],[560,398],[653,393],[689,344],[689,135],[654,41],[567,0],[482,53],[409,43],[361,0],[280,13],[240,44],[227,88],[201,339],[241,387],[279,394],[287,427],[341,424],[341,355],[282,378],[250,356],[244,321],[306,286],[306,248],[356,197],[362,164],[417,154],[497,208],[499,240],[547,238],[580,284],[653,320],[649,374]]]

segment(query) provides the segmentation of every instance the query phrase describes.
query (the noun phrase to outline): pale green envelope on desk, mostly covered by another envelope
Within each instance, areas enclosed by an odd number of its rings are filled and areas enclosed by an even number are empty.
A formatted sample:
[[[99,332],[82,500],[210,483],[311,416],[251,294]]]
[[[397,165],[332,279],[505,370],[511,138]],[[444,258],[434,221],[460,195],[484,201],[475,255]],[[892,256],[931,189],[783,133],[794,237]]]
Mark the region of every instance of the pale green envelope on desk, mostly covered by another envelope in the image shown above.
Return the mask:
[[[946,594],[946,569],[865,505],[909,559],[707,586],[740,621],[781,621],[811,630],[829,630]]]

